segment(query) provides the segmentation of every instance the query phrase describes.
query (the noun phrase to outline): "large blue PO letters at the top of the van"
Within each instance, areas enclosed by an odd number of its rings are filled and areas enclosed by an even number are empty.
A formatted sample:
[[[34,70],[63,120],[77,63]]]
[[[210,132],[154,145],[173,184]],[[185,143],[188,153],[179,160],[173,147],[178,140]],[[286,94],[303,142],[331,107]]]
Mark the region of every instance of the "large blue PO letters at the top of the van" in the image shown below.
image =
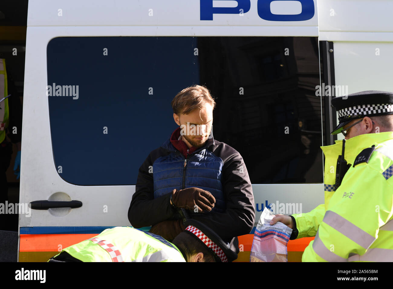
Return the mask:
[[[294,15],[273,14],[270,11],[270,3],[274,0],[258,0],[258,16],[268,21],[305,21],[314,17],[314,1],[298,0],[301,3],[301,13]],[[290,1],[290,0],[283,0]],[[239,14],[240,9],[243,13],[250,11],[250,0],[236,0],[236,7],[213,7],[213,0],[200,0],[200,20],[213,20],[213,14]]]

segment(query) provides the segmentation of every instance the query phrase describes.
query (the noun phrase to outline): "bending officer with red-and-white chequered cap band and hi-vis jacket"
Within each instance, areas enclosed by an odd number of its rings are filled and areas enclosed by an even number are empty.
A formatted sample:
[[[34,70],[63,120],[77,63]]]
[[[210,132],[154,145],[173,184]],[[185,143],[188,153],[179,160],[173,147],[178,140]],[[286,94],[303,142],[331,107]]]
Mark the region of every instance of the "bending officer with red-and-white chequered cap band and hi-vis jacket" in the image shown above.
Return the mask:
[[[114,227],[64,248],[48,262],[231,262],[237,254],[220,236],[196,220],[173,243],[131,227]]]

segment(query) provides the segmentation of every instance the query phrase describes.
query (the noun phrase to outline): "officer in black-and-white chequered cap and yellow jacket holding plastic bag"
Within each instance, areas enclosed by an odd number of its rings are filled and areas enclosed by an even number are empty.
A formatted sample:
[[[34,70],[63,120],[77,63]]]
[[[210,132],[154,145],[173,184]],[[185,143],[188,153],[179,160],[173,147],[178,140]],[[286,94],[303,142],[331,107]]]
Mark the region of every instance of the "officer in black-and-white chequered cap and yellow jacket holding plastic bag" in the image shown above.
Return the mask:
[[[303,262],[393,260],[393,92],[335,97],[345,139],[325,154],[325,204],[305,214],[276,215],[291,240],[315,236]]]

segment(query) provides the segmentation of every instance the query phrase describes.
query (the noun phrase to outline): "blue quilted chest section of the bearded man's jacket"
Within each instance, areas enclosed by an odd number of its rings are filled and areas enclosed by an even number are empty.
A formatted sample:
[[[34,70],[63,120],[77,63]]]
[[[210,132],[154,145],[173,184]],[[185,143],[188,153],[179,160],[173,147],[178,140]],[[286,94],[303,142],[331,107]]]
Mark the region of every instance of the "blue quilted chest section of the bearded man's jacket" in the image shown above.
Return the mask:
[[[159,157],[153,163],[154,198],[169,194],[173,189],[196,187],[211,192],[216,199],[212,212],[224,212],[222,159],[209,151],[207,146],[189,154],[186,159],[169,139],[161,147],[170,154]]]

